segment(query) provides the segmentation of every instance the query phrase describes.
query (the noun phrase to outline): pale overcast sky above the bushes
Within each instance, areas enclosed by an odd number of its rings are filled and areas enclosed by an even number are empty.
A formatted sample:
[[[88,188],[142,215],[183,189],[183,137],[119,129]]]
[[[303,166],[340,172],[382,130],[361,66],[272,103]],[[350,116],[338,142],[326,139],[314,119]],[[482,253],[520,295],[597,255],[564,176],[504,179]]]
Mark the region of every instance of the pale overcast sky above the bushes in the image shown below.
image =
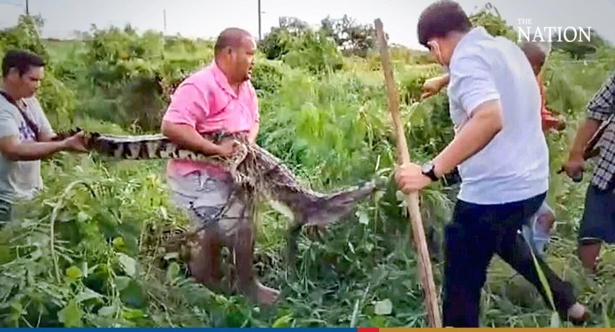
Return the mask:
[[[14,25],[25,12],[26,0],[0,0],[0,28]],[[416,39],[416,22],[432,0],[261,0],[263,36],[278,17],[292,16],[318,25],[322,18],[347,14],[359,22],[381,18],[390,43],[422,49]],[[486,0],[459,0],[469,14]],[[531,30],[544,26],[591,26],[615,43],[615,0],[492,0],[509,25],[531,18]],[[232,10],[231,7],[237,7]],[[41,14],[46,37],[67,38],[71,31],[88,31],[130,23],[139,31],[164,30],[167,34],[215,38],[228,26],[238,26],[258,36],[258,0],[30,0],[30,14]]]

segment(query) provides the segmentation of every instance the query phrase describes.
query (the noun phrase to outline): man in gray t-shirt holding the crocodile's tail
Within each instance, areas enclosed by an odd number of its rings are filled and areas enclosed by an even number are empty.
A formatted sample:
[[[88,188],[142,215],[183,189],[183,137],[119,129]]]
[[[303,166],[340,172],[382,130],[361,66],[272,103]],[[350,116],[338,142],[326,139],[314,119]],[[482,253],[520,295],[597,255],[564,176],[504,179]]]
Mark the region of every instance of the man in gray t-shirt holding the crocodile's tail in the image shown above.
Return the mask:
[[[82,132],[54,140],[54,131],[34,97],[44,65],[40,57],[23,51],[9,51],[2,59],[0,226],[10,220],[16,199],[29,200],[42,188],[42,158],[63,150],[86,151]]]

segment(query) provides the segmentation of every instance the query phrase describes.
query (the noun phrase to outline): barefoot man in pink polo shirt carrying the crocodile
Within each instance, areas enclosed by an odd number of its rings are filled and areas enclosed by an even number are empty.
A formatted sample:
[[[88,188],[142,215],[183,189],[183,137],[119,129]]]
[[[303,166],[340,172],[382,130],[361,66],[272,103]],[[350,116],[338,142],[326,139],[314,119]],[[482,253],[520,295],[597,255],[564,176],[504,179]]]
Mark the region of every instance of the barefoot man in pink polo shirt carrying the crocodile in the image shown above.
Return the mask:
[[[216,41],[215,60],[178,86],[162,119],[162,133],[185,148],[206,155],[231,155],[234,142],[220,144],[205,134],[244,133],[254,142],[259,129],[258,99],[250,78],[256,43],[245,30],[228,28]],[[239,268],[239,287],[260,304],[273,304],[279,291],[262,285],[252,273],[254,230],[251,211],[231,195],[230,174],[200,161],[171,160],[167,182],[175,201],[192,204],[193,226],[199,233],[200,250],[192,251],[189,267],[195,278],[218,289],[221,283],[221,246],[234,249]],[[211,222],[210,222],[211,221]]]

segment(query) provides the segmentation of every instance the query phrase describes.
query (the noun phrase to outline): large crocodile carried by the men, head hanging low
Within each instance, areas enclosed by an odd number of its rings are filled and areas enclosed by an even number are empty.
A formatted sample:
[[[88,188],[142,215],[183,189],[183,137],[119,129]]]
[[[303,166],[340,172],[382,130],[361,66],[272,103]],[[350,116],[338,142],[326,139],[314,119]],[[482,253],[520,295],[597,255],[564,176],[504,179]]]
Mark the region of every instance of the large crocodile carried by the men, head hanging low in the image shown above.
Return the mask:
[[[56,140],[71,136],[81,129],[62,132]],[[388,180],[379,176],[360,185],[331,193],[312,190],[295,176],[279,158],[265,148],[254,144],[245,134],[214,133],[204,136],[215,143],[234,139],[235,152],[228,157],[205,155],[180,147],[163,134],[127,135],[87,132],[87,148],[102,156],[120,160],[181,159],[217,164],[228,171],[234,180],[234,192],[245,203],[258,195],[270,206],[291,220],[288,229],[288,257],[293,260],[296,240],[302,227],[319,229],[346,216],[359,201],[378,190],[383,190]],[[194,211],[197,216],[204,218]],[[203,220],[204,226],[211,220]],[[200,229],[193,233],[199,232]]]

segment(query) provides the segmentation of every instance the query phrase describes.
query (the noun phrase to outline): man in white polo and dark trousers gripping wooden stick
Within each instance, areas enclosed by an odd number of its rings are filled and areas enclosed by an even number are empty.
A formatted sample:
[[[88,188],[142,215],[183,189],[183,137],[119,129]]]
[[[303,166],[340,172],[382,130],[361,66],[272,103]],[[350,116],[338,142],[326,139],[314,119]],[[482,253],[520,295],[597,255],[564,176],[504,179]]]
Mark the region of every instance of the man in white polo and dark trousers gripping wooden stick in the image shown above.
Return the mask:
[[[427,7],[419,42],[449,71],[453,141],[432,161],[405,164],[403,192],[421,190],[458,167],[462,179],[453,222],[446,226],[444,326],[478,326],[480,289],[497,253],[536,286],[549,303],[531,249],[518,230],[538,211],[549,187],[549,151],[541,129],[541,96],[525,54],[484,28],[472,29],[453,1]],[[587,318],[571,285],[540,257],[560,317]]]

